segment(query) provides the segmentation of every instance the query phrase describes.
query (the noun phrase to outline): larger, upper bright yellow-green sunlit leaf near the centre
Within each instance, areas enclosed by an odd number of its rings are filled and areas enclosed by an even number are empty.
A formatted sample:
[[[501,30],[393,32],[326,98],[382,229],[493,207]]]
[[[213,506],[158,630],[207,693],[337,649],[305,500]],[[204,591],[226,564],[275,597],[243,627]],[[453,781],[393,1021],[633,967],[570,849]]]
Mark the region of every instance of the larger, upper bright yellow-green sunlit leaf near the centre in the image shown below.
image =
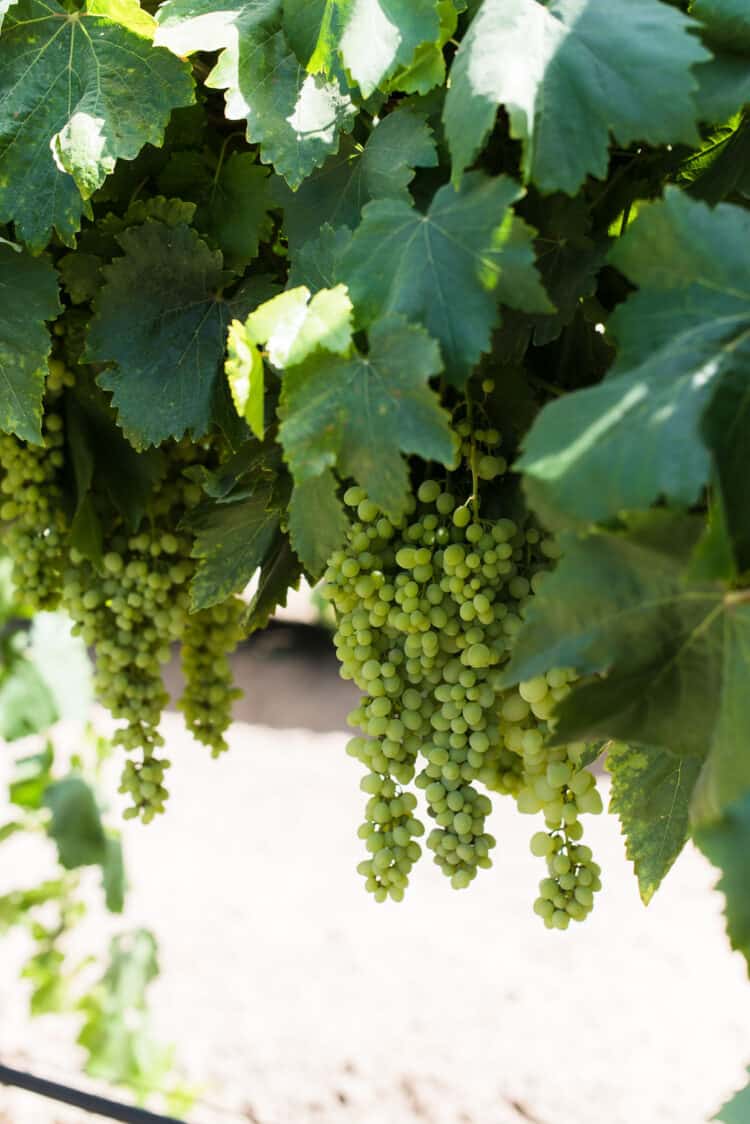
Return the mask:
[[[352,302],[346,287],[322,289],[310,300],[301,285],[260,305],[245,321],[247,338],[265,344],[269,362],[283,370],[318,348],[343,355],[352,343]]]

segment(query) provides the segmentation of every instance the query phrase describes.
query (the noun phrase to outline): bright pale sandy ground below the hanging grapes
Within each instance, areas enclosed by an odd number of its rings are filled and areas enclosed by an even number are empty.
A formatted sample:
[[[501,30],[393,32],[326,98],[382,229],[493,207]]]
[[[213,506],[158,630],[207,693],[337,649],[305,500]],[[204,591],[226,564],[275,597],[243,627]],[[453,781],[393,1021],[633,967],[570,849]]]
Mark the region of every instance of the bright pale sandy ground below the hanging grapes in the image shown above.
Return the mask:
[[[585,925],[549,933],[531,912],[536,822],[508,804],[470,890],[425,860],[400,906],[377,906],[354,871],[343,733],[238,723],[216,762],[177,716],[165,728],[171,807],[126,825],[115,927],[159,936],[155,1016],[202,1088],[190,1124],[704,1124],[742,1082],[750,987],[695,851],[645,910],[616,821],[590,821],[605,889]],[[0,890],[44,859],[11,847]],[[27,1017],[21,952],[3,942],[0,1058],[90,1087],[74,1027]],[[2,1124],[92,1120],[0,1088]]]

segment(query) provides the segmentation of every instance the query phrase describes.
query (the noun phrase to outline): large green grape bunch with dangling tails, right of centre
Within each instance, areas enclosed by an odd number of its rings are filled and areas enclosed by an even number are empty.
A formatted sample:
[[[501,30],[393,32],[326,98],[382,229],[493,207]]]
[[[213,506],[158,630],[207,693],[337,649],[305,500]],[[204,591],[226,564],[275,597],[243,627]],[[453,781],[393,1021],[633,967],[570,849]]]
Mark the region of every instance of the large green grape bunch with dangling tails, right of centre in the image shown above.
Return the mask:
[[[591,908],[599,868],[580,844],[579,816],[602,810],[581,745],[550,749],[552,709],[573,676],[558,669],[501,687],[501,670],[525,605],[557,544],[535,527],[485,519],[480,481],[501,474],[496,430],[464,420],[469,472],[423,481],[401,519],[387,517],[359,487],[345,545],[329,559],[324,596],[336,614],[341,674],[362,690],[350,715],[361,735],[347,745],[367,768],[368,795],[359,835],[369,856],[359,867],[377,900],[400,900],[424,825],[408,786],[424,794],[434,826],[434,861],[455,889],[491,865],[487,831],[491,801],[482,788],[542,813],[545,832],[532,840],[546,859],[535,912],[566,928]],[[468,487],[470,495],[464,493]]]

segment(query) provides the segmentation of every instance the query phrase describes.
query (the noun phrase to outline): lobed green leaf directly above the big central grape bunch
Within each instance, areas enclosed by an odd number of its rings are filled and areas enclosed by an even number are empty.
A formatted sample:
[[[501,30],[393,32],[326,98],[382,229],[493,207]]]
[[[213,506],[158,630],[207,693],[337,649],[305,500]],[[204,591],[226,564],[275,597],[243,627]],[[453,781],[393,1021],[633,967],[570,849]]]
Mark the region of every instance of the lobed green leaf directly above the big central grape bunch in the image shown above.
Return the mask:
[[[316,352],[284,372],[279,436],[296,484],[337,464],[398,517],[408,495],[401,453],[450,465],[455,444],[428,386],[442,365],[434,339],[400,317],[378,320],[369,335],[367,355]]]

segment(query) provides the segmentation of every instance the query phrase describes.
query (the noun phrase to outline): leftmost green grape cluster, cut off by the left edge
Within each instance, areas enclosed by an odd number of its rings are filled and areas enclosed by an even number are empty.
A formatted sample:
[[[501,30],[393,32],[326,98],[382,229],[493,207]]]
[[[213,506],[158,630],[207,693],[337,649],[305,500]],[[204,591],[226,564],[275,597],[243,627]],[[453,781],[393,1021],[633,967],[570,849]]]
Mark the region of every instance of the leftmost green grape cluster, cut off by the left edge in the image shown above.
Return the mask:
[[[63,420],[52,402],[43,443],[0,434],[0,519],[13,564],[13,583],[31,609],[55,609],[64,564],[65,516],[60,474],[64,464]]]

